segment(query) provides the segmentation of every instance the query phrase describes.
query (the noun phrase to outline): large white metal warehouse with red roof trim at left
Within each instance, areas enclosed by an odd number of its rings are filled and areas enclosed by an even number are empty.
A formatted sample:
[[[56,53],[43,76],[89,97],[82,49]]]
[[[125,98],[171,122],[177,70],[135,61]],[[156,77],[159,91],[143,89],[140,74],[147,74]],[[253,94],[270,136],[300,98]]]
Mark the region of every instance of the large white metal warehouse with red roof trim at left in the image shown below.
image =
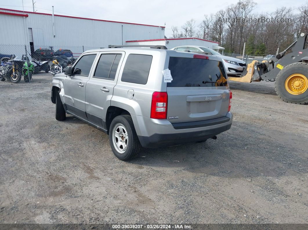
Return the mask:
[[[14,50],[16,45],[30,47],[30,44],[34,50],[53,47],[54,50],[71,49],[73,53],[80,53],[82,46],[87,50],[125,45],[128,40],[161,39],[165,28],[58,14],[53,17],[52,14],[4,8],[0,8],[0,21],[0,53],[6,54],[18,54]]]

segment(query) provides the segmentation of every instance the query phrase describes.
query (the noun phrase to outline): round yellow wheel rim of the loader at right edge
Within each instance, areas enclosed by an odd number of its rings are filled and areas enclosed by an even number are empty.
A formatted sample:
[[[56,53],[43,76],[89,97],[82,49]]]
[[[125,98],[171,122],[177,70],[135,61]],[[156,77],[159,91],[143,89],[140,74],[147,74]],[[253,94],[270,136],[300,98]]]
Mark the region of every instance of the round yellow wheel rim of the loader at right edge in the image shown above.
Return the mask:
[[[287,77],[285,81],[285,88],[290,94],[302,94],[308,89],[308,79],[300,73],[294,73]]]

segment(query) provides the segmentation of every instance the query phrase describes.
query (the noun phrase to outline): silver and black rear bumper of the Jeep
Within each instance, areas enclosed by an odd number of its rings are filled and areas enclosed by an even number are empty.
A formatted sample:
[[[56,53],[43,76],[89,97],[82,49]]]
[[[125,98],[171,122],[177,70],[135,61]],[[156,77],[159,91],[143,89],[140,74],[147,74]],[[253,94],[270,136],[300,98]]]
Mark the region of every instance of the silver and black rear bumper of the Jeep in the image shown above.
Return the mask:
[[[167,119],[150,119],[132,115],[139,141],[145,148],[158,148],[209,139],[230,129],[232,118],[232,113],[228,112],[220,119],[172,124]],[[175,124],[180,124],[180,126]]]

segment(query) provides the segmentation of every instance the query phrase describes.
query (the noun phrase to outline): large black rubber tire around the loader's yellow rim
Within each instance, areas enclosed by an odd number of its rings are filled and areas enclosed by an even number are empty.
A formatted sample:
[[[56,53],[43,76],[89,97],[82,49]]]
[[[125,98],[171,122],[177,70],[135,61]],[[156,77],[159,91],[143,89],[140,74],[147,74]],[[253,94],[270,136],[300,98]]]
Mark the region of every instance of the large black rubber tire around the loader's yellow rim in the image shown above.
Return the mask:
[[[308,103],[308,89],[301,94],[294,95],[287,91],[286,81],[293,74],[299,74],[302,76],[304,84],[307,85],[308,82],[308,63],[306,62],[296,62],[284,67],[277,75],[275,82],[275,91],[277,95],[285,102],[295,103],[295,104],[307,104]],[[306,77],[306,80],[305,80]]]

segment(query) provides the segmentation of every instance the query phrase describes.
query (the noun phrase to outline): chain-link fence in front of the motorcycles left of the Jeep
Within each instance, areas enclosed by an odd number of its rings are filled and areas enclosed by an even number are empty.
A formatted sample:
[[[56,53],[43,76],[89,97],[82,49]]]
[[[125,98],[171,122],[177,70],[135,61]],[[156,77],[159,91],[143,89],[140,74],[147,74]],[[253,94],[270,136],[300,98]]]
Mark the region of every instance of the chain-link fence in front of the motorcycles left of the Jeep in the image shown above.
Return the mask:
[[[51,82],[54,74],[90,49],[89,46],[0,44],[0,84]]]

